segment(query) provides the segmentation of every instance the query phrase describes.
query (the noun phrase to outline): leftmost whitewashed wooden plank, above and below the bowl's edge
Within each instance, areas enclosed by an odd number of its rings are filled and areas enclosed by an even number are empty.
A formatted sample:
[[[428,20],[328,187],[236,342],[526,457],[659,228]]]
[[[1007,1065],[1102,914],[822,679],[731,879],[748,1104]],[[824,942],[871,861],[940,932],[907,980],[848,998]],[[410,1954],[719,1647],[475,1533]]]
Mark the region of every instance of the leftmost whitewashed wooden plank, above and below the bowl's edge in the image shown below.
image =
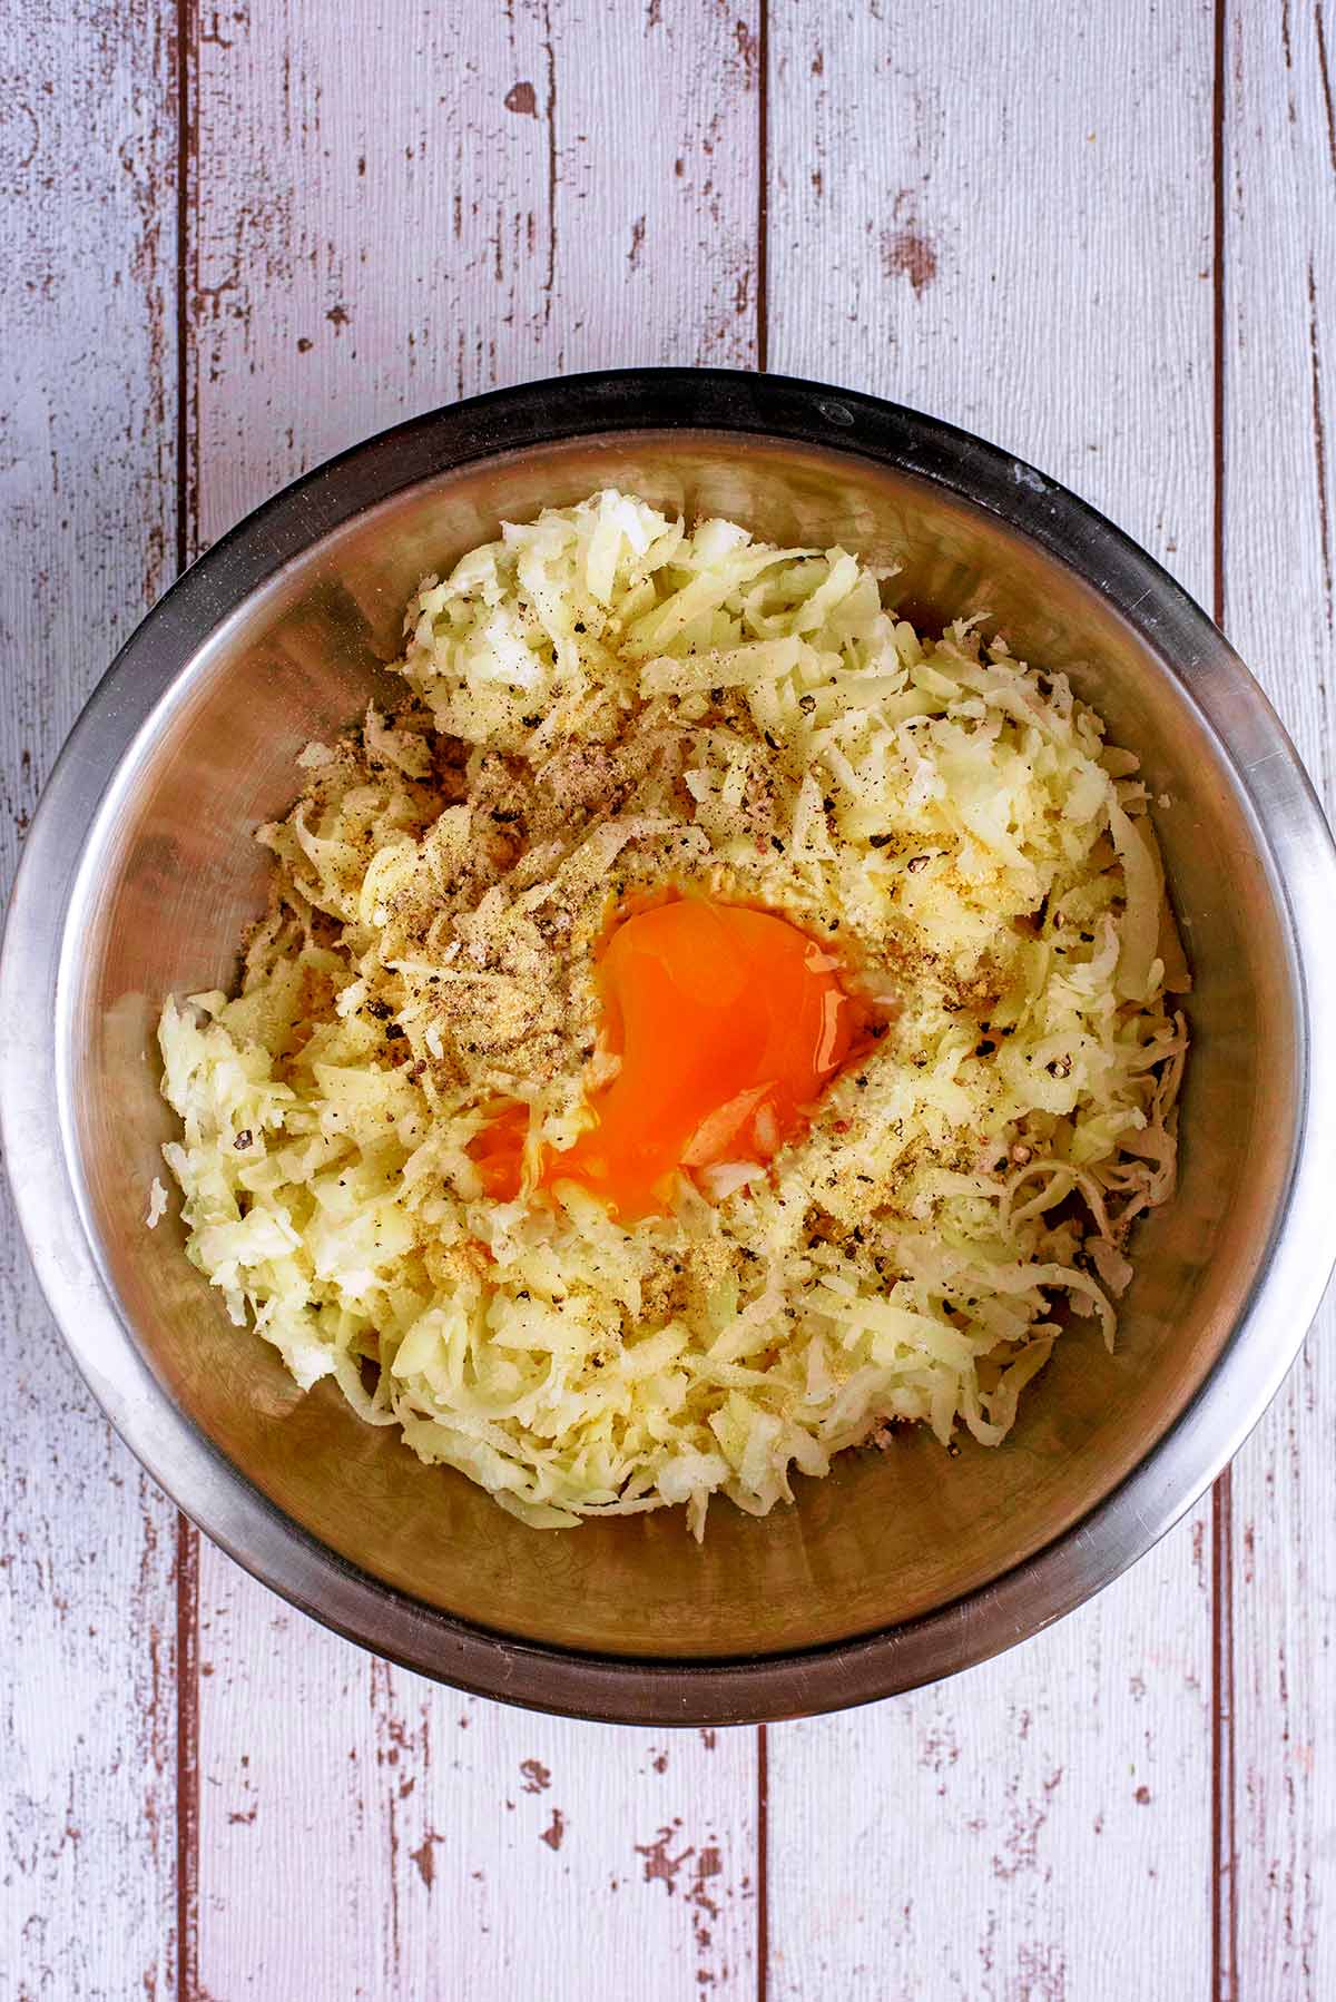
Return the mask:
[[[0,885],[174,555],[172,48],[142,0],[0,20]],[[8,1163],[22,1175],[22,1161]],[[164,1994],[176,1512],[112,1437],[0,1217],[0,1984]]]

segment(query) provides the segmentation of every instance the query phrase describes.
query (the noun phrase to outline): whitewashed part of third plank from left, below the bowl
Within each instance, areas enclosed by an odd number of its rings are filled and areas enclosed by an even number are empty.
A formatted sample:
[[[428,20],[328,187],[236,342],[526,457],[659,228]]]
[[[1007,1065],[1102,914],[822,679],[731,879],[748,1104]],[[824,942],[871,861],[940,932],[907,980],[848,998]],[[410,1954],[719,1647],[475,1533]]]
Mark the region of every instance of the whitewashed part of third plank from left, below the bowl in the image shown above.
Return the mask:
[[[769,1826],[775,2002],[1204,1998],[1204,1522],[1001,1662],[771,1726]]]

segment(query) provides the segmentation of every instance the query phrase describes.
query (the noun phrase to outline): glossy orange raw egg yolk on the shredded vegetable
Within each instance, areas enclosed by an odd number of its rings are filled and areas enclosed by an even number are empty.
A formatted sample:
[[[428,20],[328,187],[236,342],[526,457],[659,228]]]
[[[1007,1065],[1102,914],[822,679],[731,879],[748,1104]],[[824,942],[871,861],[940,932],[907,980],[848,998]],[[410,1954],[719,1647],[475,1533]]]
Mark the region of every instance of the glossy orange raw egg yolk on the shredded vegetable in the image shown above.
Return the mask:
[[[663,1211],[679,1169],[767,1161],[849,1055],[857,1007],[835,961],[749,905],[677,897],[625,917],[597,969],[621,1057],[593,1127],[549,1153],[543,1181],[579,1181],[619,1217]],[[519,1193],[527,1133],[509,1107],[469,1149],[489,1195]]]

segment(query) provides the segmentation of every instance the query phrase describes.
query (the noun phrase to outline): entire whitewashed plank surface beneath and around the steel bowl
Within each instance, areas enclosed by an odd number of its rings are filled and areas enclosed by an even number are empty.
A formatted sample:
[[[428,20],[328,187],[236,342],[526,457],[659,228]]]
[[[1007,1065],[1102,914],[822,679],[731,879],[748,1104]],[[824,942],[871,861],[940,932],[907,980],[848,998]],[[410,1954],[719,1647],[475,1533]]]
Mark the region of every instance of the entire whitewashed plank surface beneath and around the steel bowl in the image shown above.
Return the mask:
[[[1330,801],[1336,22],[1218,6],[1220,440],[1210,0],[771,8],[765,118],[759,0],[186,8],[188,541],[455,394],[753,360],[767,216],[771,366],[1014,446],[1206,603],[1220,442],[1228,627]],[[176,541],[172,20],[82,0],[0,22],[6,881]],[[763,1830],[753,1734],[455,1698],[208,1548],[196,1626],[194,1538],[90,1413],[4,1245],[0,1992],[1336,1988],[1330,1311],[1216,1550],[1204,1512],[1012,1658],[771,1730]]]

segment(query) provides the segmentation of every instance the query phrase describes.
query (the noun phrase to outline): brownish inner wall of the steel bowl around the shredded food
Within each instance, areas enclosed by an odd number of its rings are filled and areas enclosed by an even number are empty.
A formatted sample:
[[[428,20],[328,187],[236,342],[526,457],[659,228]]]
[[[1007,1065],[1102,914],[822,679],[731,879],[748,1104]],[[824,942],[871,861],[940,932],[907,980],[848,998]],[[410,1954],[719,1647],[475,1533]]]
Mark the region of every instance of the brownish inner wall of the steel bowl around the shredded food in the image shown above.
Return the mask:
[[[1176,1201],[1134,1241],[1110,1357],[1076,1325],[995,1451],[929,1437],[851,1453],[765,1522],[729,1504],[705,1546],[677,1512],[539,1534],[427,1469],[339,1393],[300,1395],[228,1323],[172,1217],[144,1229],[170,1117],[156,1091],[166,993],[228,985],[264,897],[258,821],[294,757],[351,721],[399,651],[403,607],[503,517],[601,484],[777,541],[897,563],[923,625],[989,615],[1014,651],[1068,669],[1136,749],[1156,797],[1196,989]],[[1100,1501],[1184,1409],[1272,1233],[1294,1147],[1296,1005],[1270,867],[1170,661],[1072,569],[995,513],[857,452],[747,436],[621,434],[503,454],[413,486],[288,563],[194,655],[136,739],[84,859],[62,967],[62,1061],[82,1201],[104,1273],[156,1375],[214,1445],[312,1538],[427,1606],[511,1636],[621,1656],[765,1656],[895,1626],[985,1586]],[[1172,669],[1178,669],[1174,673]],[[1186,677],[1186,679],[1184,679]]]

